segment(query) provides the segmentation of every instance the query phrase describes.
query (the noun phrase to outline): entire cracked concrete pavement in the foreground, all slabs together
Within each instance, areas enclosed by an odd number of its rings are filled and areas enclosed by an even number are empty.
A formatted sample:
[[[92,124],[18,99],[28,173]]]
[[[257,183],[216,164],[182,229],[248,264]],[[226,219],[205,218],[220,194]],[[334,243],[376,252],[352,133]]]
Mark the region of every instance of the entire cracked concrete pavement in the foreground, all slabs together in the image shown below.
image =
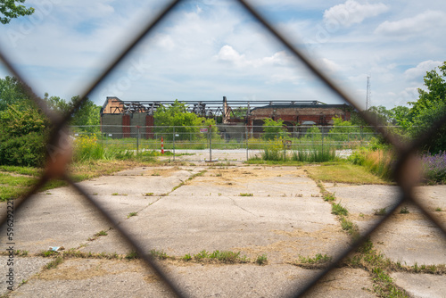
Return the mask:
[[[126,170],[81,182],[79,186],[109,211],[122,228],[136,236],[145,250],[156,249],[177,257],[161,264],[190,296],[286,296],[318,273],[316,269],[294,266],[293,261],[318,253],[335,256],[351,244],[351,237],[331,214],[331,205],[324,202],[316,183],[296,167],[189,163]],[[350,211],[349,219],[362,228],[376,220],[374,209],[392,204],[392,196],[398,192],[394,186],[327,185],[326,188],[335,192]],[[425,188],[420,194],[428,197],[433,206],[442,207],[442,191],[441,187]],[[0,203],[0,210],[4,204]],[[408,264],[446,263],[441,254],[446,245],[439,241],[438,231],[413,206],[408,208],[409,214],[393,215],[389,226],[376,235],[375,247],[392,260]],[[442,212],[439,213],[442,218]],[[16,291],[8,296],[170,296],[158,277],[139,261],[71,258],[55,269],[43,268],[54,258],[43,259],[33,253],[48,246],[63,245],[66,250],[80,252],[130,251],[120,242],[116,230],[110,229],[110,224],[70,187],[35,195],[14,214],[14,249],[26,250],[31,256],[15,257],[14,268],[21,272],[15,279]],[[107,236],[95,237],[99,231],[106,231]],[[4,251],[5,229],[0,233],[0,249]],[[241,252],[251,260],[265,254],[268,264],[178,261],[186,253],[193,255],[202,250]],[[5,285],[2,272],[7,266],[2,258],[0,283]],[[28,282],[20,285],[20,278]],[[405,278],[395,276],[401,285]],[[432,283],[426,279],[420,285]],[[341,268],[319,282],[308,296],[371,297],[373,286],[368,271]],[[442,287],[434,292],[417,291],[410,293],[438,295]],[[0,287],[0,294],[6,292],[5,286]]]

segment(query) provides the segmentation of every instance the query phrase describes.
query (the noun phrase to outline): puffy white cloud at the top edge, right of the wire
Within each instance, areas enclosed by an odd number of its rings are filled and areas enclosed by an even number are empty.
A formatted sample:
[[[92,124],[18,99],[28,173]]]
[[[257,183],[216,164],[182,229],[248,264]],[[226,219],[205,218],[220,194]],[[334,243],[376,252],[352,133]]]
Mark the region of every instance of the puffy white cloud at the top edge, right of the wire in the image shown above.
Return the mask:
[[[387,12],[389,7],[385,4],[359,4],[355,0],[347,0],[344,4],[335,5],[324,12],[326,24],[341,24],[343,27],[350,27],[352,24],[359,24],[362,21],[376,17]]]

